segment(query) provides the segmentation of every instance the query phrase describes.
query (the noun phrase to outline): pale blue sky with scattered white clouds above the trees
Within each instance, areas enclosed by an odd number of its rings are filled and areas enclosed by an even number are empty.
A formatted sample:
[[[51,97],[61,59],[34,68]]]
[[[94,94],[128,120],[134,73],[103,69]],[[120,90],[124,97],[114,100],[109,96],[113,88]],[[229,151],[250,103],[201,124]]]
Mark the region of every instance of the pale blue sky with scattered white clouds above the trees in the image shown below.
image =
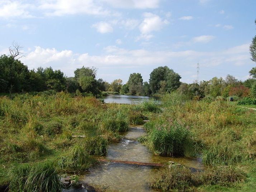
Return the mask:
[[[159,66],[182,82],[230,74],[249,78],[256,66],[255,0],[0,0],[0,54],[13,42],[29,69],[96,67],[97,78],[148,81]]]

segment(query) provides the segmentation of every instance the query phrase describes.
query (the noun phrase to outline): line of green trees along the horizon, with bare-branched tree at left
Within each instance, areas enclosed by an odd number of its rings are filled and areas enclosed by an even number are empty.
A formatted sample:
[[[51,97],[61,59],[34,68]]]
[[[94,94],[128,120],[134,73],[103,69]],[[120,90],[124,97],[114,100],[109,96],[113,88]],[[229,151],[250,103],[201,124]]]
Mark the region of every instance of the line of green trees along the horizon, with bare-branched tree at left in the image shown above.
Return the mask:
[[[103,91],[110,91],[128,95],[154,96],[177,90],[197,99],[205,96],[256,97],[256,67],[249,71],[251,78],[246,81],[238,81],[235,77],[227,75],[225,79],[213,77],[209,81],[200,83],[182,83],[178,73],[167,66],[161,66],[153,69],[148,82],[143,82],[140,73],[132,73],[125,84],[121,79],[108,83],[101,78],[96,79],[95,67],[77,68],[74,77],[65,77],[61,70],[53,70],[52,67],[29,70],[19,61],[20,48],[22,47],[18,44],[13,44],[13,47],[9,47],[9,56],[0,56],[0,92],[2,93],[55,90],[100,95]],[[252,61],[256,62],[256,35],[252,39],[250,53]]]

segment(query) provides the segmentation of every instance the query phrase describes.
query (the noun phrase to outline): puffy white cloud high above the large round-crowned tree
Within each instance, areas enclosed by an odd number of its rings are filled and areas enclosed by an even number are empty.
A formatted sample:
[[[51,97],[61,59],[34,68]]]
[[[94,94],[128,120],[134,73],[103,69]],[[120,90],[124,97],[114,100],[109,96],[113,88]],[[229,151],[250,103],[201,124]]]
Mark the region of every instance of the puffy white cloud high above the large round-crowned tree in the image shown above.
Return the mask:
[[[144,19],[139,25],[139,30],[142,34],[148,34],[152,31],[159,31],[164,25],[169,24],[166,19],[163,20],[160,16],[152,13],[144,13]]]

